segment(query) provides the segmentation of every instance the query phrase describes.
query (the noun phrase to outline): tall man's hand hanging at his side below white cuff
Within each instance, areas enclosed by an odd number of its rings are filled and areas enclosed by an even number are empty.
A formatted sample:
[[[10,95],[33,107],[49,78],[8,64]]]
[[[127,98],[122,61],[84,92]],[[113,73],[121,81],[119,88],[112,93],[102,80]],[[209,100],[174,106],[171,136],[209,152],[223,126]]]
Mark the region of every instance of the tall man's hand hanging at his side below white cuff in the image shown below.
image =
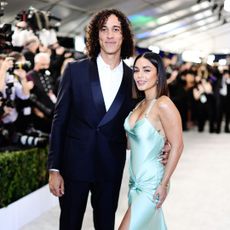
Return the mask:
[[[61,197],[64,195],[64,180],[59,172],[56,171],[49,172],[49,187],[50,187],[50,192],[54,196]]]

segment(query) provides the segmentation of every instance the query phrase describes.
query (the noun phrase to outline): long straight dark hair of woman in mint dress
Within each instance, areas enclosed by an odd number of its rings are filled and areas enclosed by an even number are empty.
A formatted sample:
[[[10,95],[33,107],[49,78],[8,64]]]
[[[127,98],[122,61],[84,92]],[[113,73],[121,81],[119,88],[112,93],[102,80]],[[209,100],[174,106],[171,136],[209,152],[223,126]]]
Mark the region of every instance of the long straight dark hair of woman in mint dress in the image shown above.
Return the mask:
[[[166,72],[165,67],[163,64],[163,61],[159,54],[153,53],[153,52],[145,52],[143,54],[139,54],[133,64],[133,69],[135,68],[136,62],[139,58],[144,57],[147,60],[149,60],[157,69],[157,96],[156,98],[159,98],[163,95],[168,96],[168,85],[167,85],[167,78],[166,78]],[[140,91],[136,87],[136,83],[133,79],[133,97],[137,99],[144,98],[144,92]]]

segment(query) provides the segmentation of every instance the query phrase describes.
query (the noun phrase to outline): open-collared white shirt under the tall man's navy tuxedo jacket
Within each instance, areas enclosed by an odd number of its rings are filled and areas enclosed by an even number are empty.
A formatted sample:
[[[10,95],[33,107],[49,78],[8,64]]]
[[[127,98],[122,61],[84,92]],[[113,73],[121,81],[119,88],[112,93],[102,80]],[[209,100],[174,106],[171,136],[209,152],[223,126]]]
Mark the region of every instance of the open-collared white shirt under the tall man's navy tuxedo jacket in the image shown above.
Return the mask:
[[[106,111],[108,111],[121,85],[124,72],[123,63],[121,61],[117,67],[111,69],[110,66],[104,62],[101,55],[99,54],[97,57],[97,67],[101,90],[105,102],[105,108]]]

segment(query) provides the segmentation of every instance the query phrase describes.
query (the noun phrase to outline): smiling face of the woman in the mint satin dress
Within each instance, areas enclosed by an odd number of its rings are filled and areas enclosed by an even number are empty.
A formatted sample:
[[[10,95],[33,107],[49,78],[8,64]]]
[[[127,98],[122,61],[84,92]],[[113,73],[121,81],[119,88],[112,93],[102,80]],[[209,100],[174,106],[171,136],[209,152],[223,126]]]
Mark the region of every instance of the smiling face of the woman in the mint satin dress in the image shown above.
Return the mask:
[[[152,89],[157,84],[157,69],[146,58],[139,58],[134,66],[134,80],[140,91]]]

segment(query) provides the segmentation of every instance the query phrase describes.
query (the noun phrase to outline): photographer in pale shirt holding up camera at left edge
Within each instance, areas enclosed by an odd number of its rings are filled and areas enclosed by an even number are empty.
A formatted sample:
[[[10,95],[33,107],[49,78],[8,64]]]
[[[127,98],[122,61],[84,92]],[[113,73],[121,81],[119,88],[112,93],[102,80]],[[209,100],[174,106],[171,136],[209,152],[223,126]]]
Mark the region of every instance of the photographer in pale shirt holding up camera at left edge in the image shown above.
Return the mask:
[[[17,58],[17,60],[15,59]],[[26,72],[18,68],[18,60],[23,60],[20,53],[12,53],[0,58],[1,126],[6,131],[6,144],[11,144],[17,131],[18,111],[16,99],[29,98],[32,84],[27,82]]]

